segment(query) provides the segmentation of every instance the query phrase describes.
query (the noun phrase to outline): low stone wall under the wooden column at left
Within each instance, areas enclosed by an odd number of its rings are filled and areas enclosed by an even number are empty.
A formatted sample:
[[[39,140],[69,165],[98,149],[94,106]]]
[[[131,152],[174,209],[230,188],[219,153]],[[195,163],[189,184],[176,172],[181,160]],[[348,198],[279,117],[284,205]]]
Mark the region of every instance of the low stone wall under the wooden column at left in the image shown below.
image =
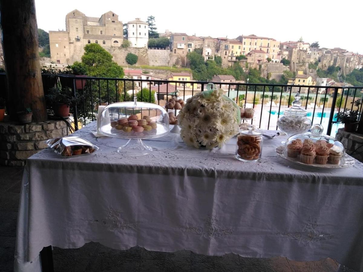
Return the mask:
[[[25,160],[47,145],[47,139],[68,135],[64,121],[19,125],[0,122],[0,165],[24,166]]]

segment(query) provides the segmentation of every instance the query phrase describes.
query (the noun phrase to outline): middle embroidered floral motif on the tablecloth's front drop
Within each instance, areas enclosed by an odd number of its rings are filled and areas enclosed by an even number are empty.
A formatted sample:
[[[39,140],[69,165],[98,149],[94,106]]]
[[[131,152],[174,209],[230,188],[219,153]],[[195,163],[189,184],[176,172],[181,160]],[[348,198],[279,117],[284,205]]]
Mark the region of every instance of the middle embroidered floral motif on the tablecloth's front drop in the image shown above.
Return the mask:
[[[188,226],[182,226],[180,227],[180,230],[182,231],[189,231],[194,234],[202,235],[204,238],[212,239],[212,238],[218,238],[223,235],[231,235],[232,229],[231,228],[225,228],[224,226],[217,226],[218,220],[216,216],[211,217],[211,215],[208,215],[208,217],[205,219],[205,230],[203,227],[188,227]]]

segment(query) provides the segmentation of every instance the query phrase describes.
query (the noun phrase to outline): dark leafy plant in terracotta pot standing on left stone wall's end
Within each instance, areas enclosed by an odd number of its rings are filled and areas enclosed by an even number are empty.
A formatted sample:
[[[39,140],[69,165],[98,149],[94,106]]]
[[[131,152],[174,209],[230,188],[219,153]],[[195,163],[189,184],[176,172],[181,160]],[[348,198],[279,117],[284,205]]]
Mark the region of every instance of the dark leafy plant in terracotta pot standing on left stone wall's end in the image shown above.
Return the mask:
[[[73,96],[69,88],[53,87],[46,95],[47,103],[52,105],[54,115],[60,117],[69,116],[69,107],[78,102],[79,98]]]

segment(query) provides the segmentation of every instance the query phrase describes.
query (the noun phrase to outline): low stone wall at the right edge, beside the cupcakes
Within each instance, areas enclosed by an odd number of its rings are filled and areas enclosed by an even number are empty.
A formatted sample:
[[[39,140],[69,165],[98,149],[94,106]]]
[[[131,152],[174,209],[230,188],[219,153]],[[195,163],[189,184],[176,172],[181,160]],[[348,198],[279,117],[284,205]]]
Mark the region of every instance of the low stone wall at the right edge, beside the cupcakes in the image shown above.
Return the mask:
[[[335,138],[344,145],[348,155],[363,162],[363,134],[346,132],[343,128],[339,128]]]

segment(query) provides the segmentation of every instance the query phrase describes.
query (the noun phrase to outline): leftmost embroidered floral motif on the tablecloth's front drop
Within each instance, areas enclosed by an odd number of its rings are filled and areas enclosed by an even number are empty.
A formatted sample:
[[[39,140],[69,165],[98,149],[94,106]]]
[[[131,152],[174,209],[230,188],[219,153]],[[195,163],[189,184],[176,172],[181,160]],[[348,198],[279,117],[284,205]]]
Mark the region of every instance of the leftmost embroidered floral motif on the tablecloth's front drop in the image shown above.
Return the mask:
[[[110,210],[107,211],[107,218],[104,219],[90,219],[86,218],[84,221],[99,224],[103,227],[107,227],[110,231],[123,231],[128,228],[135,228],[137,226],[137,222],[131,223],[128,221],[124,221],[121,218],[122,212],[110,207]]]

